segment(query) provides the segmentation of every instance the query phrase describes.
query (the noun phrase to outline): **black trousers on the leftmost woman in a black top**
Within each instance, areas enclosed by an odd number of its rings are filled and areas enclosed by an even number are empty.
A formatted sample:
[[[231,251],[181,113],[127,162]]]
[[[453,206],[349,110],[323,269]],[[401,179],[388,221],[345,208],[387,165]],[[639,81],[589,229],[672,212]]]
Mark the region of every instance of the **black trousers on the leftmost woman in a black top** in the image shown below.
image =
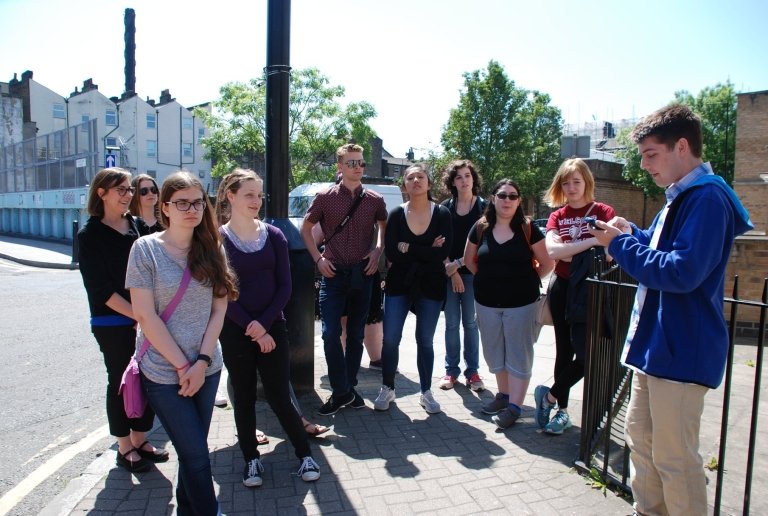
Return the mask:
[[[155,413],[147,405],[144,415],[129,418],[125,415],[123,398],[117,393],[123,372],[136,350],[136,330],[132,326],[91,326],[107,367],[107,421],[109,433],[126,437],[131,430],[148,432],[152,429]]]

